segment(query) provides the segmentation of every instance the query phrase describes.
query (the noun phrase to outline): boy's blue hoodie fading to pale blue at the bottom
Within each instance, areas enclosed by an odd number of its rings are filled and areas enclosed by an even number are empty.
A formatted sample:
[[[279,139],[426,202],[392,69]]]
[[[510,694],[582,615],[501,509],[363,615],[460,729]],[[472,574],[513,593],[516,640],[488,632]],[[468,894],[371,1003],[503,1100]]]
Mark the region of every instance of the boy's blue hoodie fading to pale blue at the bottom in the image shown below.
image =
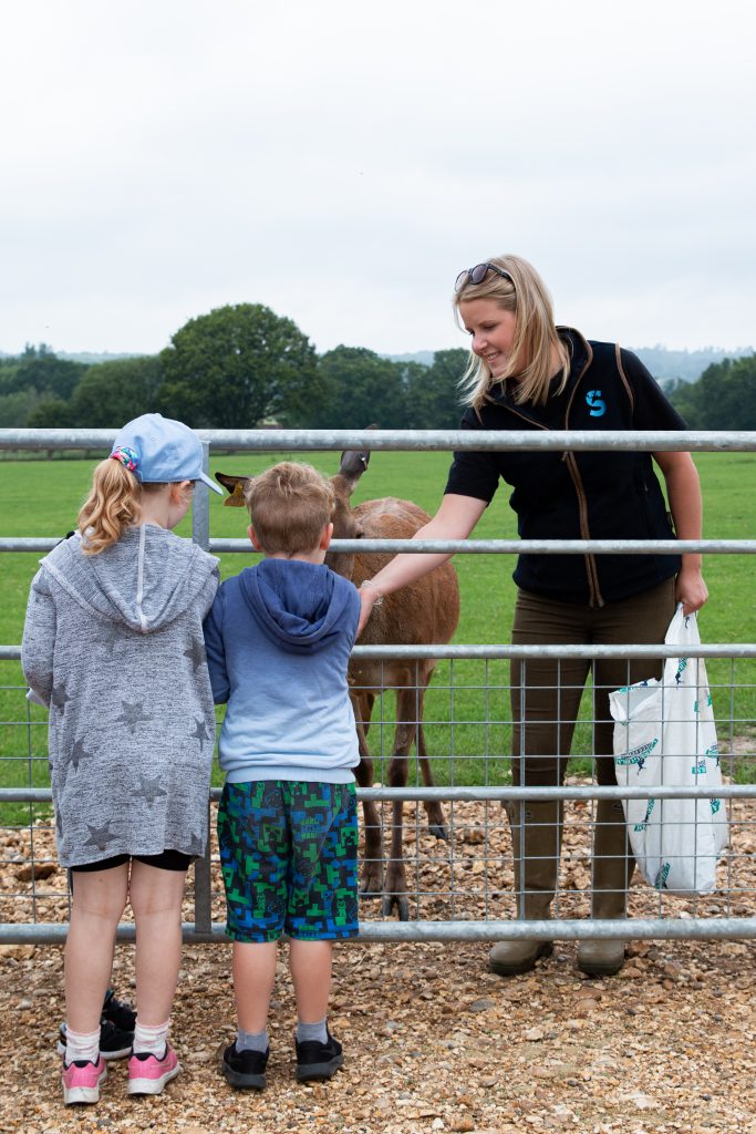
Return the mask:
[[[219,742],[231,784],[349,784],[359,762],[347,666],[359,595],[329,567],[263,559],[224,582],[205,619]]]

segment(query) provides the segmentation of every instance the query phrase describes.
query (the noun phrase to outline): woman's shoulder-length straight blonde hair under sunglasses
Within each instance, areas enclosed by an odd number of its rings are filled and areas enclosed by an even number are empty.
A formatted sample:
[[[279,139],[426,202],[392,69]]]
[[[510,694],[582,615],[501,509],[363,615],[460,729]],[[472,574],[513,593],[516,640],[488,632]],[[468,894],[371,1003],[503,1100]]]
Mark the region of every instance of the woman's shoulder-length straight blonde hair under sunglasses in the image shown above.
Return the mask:
[[[557,333],[551,296],[533,264],[521,256],[492,256],[486,263],[508,272],[511,280],[496,272],[486,272],[481,284],[473,284],[468,278],[455,294],[458,319],[460,303],[493,299],[502,311],[515,315],[515,339],[507,370],[496,378],[487,362],[470,352],[467,370],[459,383],[460,390],[466,404],[479,409],[492,386],[517,375],[515,401],[543,405],[554,376],[552,348],[557,348],[562,369],[557,392],[564,389],[569,376],[569,355]]]

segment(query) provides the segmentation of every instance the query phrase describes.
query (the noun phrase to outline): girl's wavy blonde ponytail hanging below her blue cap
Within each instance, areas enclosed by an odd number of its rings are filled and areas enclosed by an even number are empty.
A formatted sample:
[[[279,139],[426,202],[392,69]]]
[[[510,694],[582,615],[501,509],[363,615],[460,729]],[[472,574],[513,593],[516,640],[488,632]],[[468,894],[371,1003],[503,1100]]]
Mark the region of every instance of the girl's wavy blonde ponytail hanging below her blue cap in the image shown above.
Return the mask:
[[[77,526],[82,551],[99,556],[117,543],[127,527],[139,522],[144,492],[162,491],[164,484],[141,484],[119,460],[101,460],[92,474],[92,489],[82,505]]]

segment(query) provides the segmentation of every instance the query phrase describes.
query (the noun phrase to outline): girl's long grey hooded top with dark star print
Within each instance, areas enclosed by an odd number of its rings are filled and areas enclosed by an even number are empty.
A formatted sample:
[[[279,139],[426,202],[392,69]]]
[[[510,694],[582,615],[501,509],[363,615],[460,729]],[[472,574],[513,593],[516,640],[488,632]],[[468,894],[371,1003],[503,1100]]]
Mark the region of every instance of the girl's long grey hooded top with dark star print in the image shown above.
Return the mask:
[[[22,665],[50,709],[63,866],[164,849],[202,854],[215,717],[202,633],[218,560],[152,524],[86,556],[41,560]]]

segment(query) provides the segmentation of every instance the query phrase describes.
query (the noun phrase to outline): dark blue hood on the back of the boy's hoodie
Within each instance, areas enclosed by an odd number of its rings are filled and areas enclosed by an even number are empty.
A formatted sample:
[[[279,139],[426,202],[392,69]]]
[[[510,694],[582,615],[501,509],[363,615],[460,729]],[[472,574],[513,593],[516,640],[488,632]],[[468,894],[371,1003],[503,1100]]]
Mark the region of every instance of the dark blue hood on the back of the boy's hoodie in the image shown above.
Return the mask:
[[[316,653],[345,629],[355,587],[324,565],[263,559],[241,572],[244,600],[267,638],[289,653]]]

